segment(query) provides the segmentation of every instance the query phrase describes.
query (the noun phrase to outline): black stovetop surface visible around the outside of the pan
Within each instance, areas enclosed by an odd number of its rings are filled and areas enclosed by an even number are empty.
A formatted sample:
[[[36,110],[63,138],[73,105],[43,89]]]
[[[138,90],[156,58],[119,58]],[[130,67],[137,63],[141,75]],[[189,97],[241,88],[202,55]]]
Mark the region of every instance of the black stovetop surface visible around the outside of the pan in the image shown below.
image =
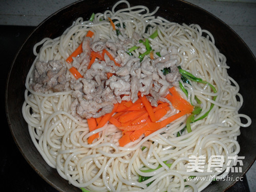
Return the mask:
[[[6,87],[6,79],[11,63],[26,40],[28,35],[35,27],[25,26],[0,26],[0,53],[1,53],[1,84]],[[4,91],[2,91],[4,95]],[[2,97],[3,97],[2,95]],[[5,109],[5,101],[2,99],[2,107]],[[6,191],[19,192],[57,192],[55,188],[43,180],[33,168],[28,164],[22,154],[19,152],[12,135],[10,133],[7,119],[4,117],[2,124],[4,135],[1,138],[1,183],[2,189]],[[246,176],[243,181],[237,182],[227,190],[247,192],[249,191]]]

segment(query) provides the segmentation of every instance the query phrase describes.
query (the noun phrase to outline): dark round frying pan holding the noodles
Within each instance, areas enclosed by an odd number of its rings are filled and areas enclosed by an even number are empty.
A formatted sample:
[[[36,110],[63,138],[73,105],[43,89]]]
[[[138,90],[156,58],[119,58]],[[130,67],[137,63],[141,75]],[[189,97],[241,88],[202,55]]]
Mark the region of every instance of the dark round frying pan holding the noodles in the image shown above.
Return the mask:
[[[33,46],[44,37],[55,38],[72,25],[77,17],[89,19],[93,12],[103,12],[111,9],[116,0],[103,1],[79,1],[73,3],[44,20],[29,35],[23,46],[18,51],[10,72],[8,74],[6,86],[6,113],[13,139],[20,152],[31,165],[31,167],[44,180],[59,191],[75,192],[80,189],[70,185],[68,181],[62,179],[55,169],[47,165],[33,145],[27,128],[27,123],[23,119],[22,104],[24,102],[25,79],[35,58]],[[149,1],[131,0],[131,6],[145,5],[151,11],[160,6],[157,15],[160,15],[172,22],[198,24],[202,29],[206,29],[215,37],[216,46],[227,57],[227,65],[230,66],[228,73],[240,86],[240,93],[244,97],[244,103],[240,113],[247,114],[252,119],[249,127],[241,128],[241,135],[238,141],[241,145],[239,156],[244,156],[242,173],[231,173],[230,177],[242,177],[256,158],[256,102],[254,96],[256,72],[256,59],[245,45],[244,41],[230,29],[225,23],[205,10],[184,2],[184,1]],[[243,119],[242,119],[243,122]],[[204,191],[225,191],[236,181],[216,181],[212,182]]]

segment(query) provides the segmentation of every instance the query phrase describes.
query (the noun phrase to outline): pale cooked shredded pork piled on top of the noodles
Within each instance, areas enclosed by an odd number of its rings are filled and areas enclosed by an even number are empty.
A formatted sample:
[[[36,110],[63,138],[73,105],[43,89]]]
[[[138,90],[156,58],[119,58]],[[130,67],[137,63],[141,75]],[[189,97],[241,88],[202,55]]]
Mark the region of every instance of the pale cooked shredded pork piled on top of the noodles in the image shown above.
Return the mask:
[[[138,34],[134,36],[140,38]],[[114,104],[122,100],[135,102],[139,92],[146,95],[153,106],[157,106],[158,100],[165,100],[168,89],[179,84],[181,75],[177,68],[177,49],[162,49],[161,57],[144,57],[141,61],[127,53],[128,41],[120,38],[119,42],[93,42],[91,38],[86,37],[82,42],[83,52],[72,62],[72,66],[83,78],[73,78],[61,60],[37,61],[31,88],[44,93],[73,90],[72,115],[82,118],[97,118],[110,113]],[[140,46],[143,47],[142,44]],[[88,69],[91,52],[101,53],[104,49],[120,67],[105,54],[104,61],[96,59]],[[164,68],[170,68],[170,73],[164,75]],[[109,78],[108,73],[112,74]]]

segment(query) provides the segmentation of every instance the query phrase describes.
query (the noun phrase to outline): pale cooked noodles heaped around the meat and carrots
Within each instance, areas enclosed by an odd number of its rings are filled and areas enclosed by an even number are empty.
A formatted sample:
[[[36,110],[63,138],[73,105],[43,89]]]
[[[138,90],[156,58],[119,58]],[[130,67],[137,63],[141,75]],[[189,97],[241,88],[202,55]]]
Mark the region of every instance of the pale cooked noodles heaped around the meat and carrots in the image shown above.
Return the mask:
[[[127,4],[127,8],[116,10],[119,3]],[[130,7],[128,2],[121,1],[111,11],[95,13],[93,22],[78,18],[61,36],[45,38],[34,47],[37,56],[35,61],[62,59],[66,62],[65,59],[78,47],[89,30],[94,32],[94,41],[115,41],[121,38],[110,25],[108,17],[111,17],[117,19],[121,27],[125,24],[123,33],[131,38],[131,47],[137,43],[132,39],[133,32],[148,38],[157,29],[158,36],[150,39],[151,45],[155,49],[159,47],[159,50],[177,47],[181,68],[217,89],[217,93],[213,93],[207,84],[182,82],[188,97],[181,90],[179,92],[189,101],[194,102],[195,96],[200,99],[201,114],[206,113],[211,103],[214,103],[207,117],[191,123],[192,132],[187,133],[185,130],[177,137],[177,132],[184,128],[187,118],[183,116],[147,137],[120,147],[118,140],[121,131],[114,125],[106,124],[89,133],[87,120],[75,119],[70,114],[73,101],[71,91],[37,93],[31,90],[29,79],[34,62],[26,81],[23,115],[31,139],[41,156],[74,186],[90,191],[200,191],[210,184],[213,178],[210,175],[220,175],[215,169],[212,169],[212,173],[207,172],[207,159],[212,155],[224,156],[225,170],[227,158],[238,155],[240,151],[237,141],[240,127],[249,126],[251,120],[238,113],[243,104],[243,98],[238,93],[239,85],[228,76],[226,58],[216,48],[214,37],[198,25],[179,25],[156,17],[154,14],[157,10],[150,12],[145,6]],[[145,33],[147,25],[152,27]],[[36,52],[38,46],[41,46],[39,53]],[[69,63],[66,62],[66,65],[70,68]],[[70,75],[69,72],[67,75]],[[212,97],[216,95],[214,101]],[[246,118],[247,123],[241,123],[240,118]],[[88,144],[87,138],[97,132],[100,138]],[[204,172],[187,172],[189,156],[192,155],[206,157]],[[172,166],[168,167],[165,161],[172,163]],[[158,165],[161,167],[155,172],[141,172],[142,169],[154,169]],[[227,174],[223,172],[220,177]],[[139,175],[153,177],[138,182]],[[207,179],[188,181],[189,176]]]

